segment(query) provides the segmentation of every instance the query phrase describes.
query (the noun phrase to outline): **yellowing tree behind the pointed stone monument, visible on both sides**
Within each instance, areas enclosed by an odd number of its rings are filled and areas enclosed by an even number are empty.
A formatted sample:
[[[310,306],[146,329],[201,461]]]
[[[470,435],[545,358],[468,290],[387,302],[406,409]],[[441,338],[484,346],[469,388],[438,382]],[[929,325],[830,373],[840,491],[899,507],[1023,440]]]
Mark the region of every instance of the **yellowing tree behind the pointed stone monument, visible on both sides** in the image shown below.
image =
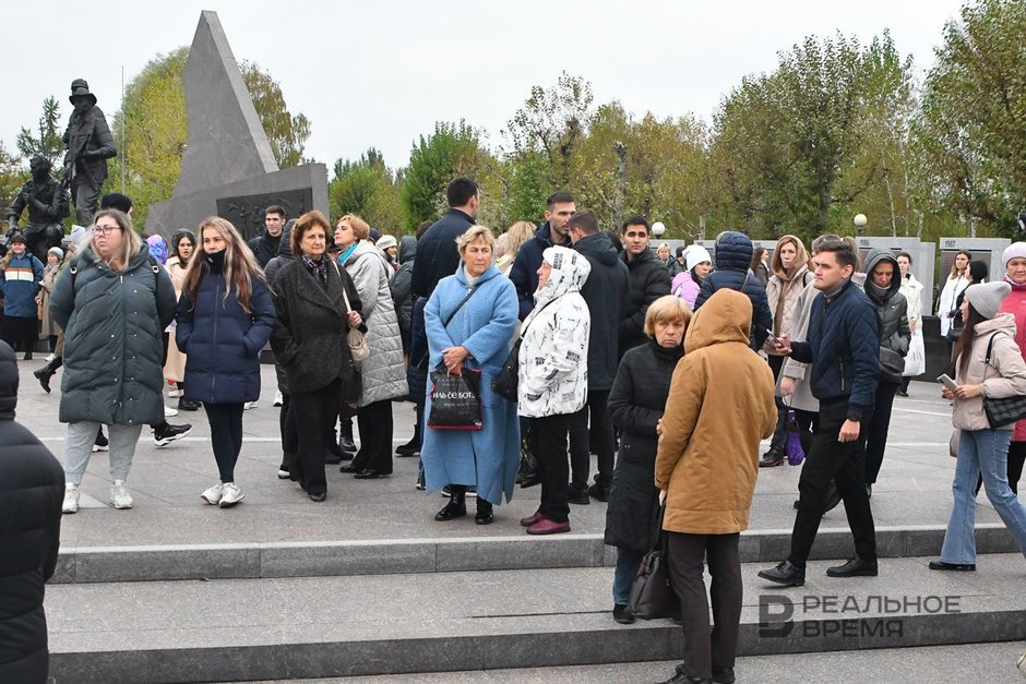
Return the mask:
[[[121,111],[114,118],[115,141],[119,147],[124,141],[124,192],[132,197],[132,216],[140,225],[150,205],[169,199],[178,183],[188,140],[182,87],[188,58],[189,48],[181,47],[148,62],[126,86]],[[243,62],[242,71],[278,166],[301,163],[309,120],[289,113],[277,83],[260,67]],[[120,191],[120,157],[111,159],[105,191]]]

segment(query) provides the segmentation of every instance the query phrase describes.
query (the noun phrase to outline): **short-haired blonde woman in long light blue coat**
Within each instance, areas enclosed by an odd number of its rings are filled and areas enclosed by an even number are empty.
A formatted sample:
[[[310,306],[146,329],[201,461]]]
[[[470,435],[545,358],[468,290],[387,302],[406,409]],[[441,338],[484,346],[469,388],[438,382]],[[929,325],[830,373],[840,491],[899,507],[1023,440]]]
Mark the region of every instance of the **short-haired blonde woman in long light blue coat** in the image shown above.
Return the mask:
[[[425,489],[450,487],[449,503],[436,520],[467,514],[467,487],[477,488],[478,525],[494,520],[492,506],[513,497],[520,465],[520,422],[516,404],[491,391],[491,382],[510,353],[518,310],[516,290],[493,265],[496,239],[484,226],[472,226],[456,240],[461,264],[443,278],[425,307],[429,368],[481,371],[484,427],[479,431],[434,430],[423,433],[420,457]],[[467,295],[473,290],[473,296]],[[428,397],[425,416],[431,415]]]

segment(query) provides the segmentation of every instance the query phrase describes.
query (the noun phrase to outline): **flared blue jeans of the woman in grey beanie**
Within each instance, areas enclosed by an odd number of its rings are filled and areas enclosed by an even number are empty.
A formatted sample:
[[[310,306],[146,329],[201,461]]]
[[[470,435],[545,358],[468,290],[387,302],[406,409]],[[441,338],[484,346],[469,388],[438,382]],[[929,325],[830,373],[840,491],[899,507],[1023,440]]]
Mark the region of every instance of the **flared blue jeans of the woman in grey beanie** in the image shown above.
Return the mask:
[[[1026,555],[1026,506],[1009,487],[1007,458],[1011,430],[963,430],[958,442],[958,461],[952,493],[951,511],[941,561],[956,564],[976,563],[976,480],[982,473],[987,497],[1001,516],[1019,549]]]

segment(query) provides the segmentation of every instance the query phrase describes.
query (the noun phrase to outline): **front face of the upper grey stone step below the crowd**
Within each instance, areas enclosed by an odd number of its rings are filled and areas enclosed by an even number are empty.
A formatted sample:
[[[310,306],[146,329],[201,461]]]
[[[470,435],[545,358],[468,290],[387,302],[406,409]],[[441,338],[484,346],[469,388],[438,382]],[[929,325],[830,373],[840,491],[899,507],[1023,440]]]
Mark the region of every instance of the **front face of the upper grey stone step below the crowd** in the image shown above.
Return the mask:
[[[1017,550],[1003,525],[978,525],[979,553]],[[924,556],[940,552],[943,526],[879,527],[880,557]],[[787,555],[790,530],[749,530],[741,536],[741,560],[776,563]],[[854,555],[847,529],[822,529],[813,559]],[[59,584],[324,577],[496,569],[603,567],[616,550],[601,535],[554,537],[421,538],[317,542],[168,544],[62,549]]]

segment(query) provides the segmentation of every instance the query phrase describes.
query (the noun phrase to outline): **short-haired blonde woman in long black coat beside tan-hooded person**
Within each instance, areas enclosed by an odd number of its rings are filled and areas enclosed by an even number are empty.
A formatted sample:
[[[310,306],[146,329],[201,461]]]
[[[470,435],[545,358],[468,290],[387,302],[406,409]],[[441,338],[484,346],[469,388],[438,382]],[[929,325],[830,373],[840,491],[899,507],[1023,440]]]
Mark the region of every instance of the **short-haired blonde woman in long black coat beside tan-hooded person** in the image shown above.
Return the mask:
[[[645,314],[648,343],[623,355],[609,392],[609,418],[620,431],[620,453],[606,509],[606,543],[617,547],[612,616],[621,624],[634,622],[627,610],[631,585],[659,530],[656,424],[663,418],[673,369],[684,353],[690,319],[688,304],[679,297],[654,301]]]

